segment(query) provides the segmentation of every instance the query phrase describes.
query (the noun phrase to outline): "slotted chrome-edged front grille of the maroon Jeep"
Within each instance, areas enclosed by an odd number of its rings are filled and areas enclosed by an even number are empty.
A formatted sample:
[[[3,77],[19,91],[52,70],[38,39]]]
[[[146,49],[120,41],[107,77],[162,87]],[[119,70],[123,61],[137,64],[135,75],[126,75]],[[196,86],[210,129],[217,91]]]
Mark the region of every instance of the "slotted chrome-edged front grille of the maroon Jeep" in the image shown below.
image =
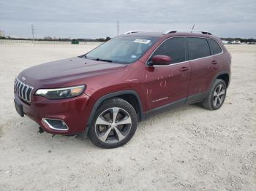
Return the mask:
[[[17,93],[17,95],[26,102],[31,102],[31,93],[34,87],[31,87],[29,85],[24,84],[23,82],[20,82],[18,78],[15,79],[14,82],[14,92]]]

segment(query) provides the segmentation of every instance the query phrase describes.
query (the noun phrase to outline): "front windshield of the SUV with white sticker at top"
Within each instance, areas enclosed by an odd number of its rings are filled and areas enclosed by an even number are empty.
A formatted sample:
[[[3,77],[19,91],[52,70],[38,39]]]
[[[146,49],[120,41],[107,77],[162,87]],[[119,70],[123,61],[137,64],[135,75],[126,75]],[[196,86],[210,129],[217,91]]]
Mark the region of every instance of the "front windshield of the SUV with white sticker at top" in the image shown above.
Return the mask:
[[[137,61],[156,42],[152,36],[118,36],[86,54],[86,58],[113,63]]]

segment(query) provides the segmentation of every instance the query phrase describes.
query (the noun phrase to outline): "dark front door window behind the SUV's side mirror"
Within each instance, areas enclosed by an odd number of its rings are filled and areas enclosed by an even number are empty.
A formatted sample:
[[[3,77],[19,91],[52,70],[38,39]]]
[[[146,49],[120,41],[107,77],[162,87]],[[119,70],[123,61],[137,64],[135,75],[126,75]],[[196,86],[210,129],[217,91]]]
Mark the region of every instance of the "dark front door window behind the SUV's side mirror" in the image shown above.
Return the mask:
[[[185,43],[183,37],[175,37],[167,39],[162,43],[153,55],[167,55],[170,56],[171,63],[179,63],[185,61]],[[149,61],[151,61],[151,58]]]

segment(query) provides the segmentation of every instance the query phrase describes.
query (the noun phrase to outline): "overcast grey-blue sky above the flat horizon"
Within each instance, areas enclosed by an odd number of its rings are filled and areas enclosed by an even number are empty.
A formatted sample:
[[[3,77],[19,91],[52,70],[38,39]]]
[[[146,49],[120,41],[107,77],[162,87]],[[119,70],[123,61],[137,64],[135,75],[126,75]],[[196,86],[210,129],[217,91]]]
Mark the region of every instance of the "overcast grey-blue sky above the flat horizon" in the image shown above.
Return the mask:
[[[0,0],[6,36],[99,38],[126,31],[195,29],[256,38],[255,0]]]

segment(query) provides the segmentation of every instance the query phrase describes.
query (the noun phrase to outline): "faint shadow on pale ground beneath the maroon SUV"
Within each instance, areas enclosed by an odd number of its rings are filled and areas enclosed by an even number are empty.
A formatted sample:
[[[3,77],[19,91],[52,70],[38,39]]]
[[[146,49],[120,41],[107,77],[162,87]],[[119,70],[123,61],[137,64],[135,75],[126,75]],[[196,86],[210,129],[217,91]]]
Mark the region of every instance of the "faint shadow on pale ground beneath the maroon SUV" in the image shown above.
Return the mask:
[[[144,130],[144,128],[146,128],[146,126],[150,125],[152,122],[154,122],[154,124],[158,124],[162,121],[165,121],[166,118],[170,120],[172,117],[176,117],[177,113],[189,114],[189,113],[195,112],[195,109],[202,110],[203,108],[199,104],[184,105],[184,106],[178,107],[177,109],[172,109],[167,112],[156,114],[144,120],[143,122],[138,123],[138,131],[140,132],[138,134],[143,133],[146,135],[147,133],[151,133],[151,130],[150,130],[151,128],[147,128],[147,130]],[[12,135],[13,133],[15,133],[15,136],[17,137],[17,139],[19,139],[20,137],[22,137],[23,139],[27,139],[26,144],[32,145],[34,149],[42,149],[40,147],[45,147],[45,149],[46,148],[57,149],[58,147],[67,147],[68,149],[76,150],[78,152],[80,152],[81,150],[84,151],[85,149],[89,149],[89,150],[100,149],[99,147],[96,147],[94,144],[92,144],[89,137],[86,135],[63,136],[63,135],[52,135],[46,132],[39,133],[38,132],[39,126],[35,122],[29,120],[28,118],[25,120],[25,122],[24,122],[24,118],[22,119],[17,118],[17,124],[21,124],[19,125],[20,126],[19,130],[15,130],[15,132],[12,132]],[[0,128],[0,136],[2,136],[1,128]],[[6,136],[5,133],[4,133],[4,136]],[[136,136],[136,133],[135,133],[135,136]],[[136,139],[140,139],[140,138],[138,137]],[[37,144],[31,144],[33,142],[37,142]]]

